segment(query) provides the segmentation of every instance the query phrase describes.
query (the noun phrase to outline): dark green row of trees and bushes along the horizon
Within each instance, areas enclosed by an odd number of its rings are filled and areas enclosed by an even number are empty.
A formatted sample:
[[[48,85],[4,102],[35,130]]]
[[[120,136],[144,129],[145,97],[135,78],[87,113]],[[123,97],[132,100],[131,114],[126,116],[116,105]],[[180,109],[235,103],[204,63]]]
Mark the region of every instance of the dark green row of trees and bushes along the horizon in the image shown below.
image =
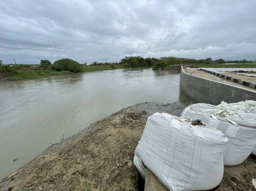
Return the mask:
[[[178,58],[178,57],[161,57],[161,58],[143,58],[141,56],[125,56],[121,59],[120,62],[96,62],[94,61],[92,64],[80,64],[74,60],[64,58],[55,61],[53,64],[49,60],[41,60],[40,64],[36,64],[32,67],[30,64],[2,64],[2,60],[0,60],[0,78],[3,76],[8,76],[12,73],[17,73],[18,70],[55,70],[55,71],[62,71],[68,70],[71,72],[81,72],[83,71],[83,66],[111,66],[111,68],[115,69],[115,65],[122,65],[123,67],[152,67],[153,70],[160,70],[164,69],[169,65],[176,65],[176,64],[197,64],[197,63],[224,63],[224,62],[250,62],[241,60],[241,61],[225,61],[224,59],[217,59],[212,60],[211,57],[205,59],[190,59],[190,58]]]

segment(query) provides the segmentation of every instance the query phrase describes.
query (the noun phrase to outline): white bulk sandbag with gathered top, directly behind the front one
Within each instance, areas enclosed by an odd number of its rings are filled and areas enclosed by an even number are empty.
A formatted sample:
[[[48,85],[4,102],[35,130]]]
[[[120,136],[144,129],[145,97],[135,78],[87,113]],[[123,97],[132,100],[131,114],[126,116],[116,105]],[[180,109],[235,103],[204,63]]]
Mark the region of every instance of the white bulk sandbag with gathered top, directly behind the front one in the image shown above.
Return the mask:
[[[251,154],[256,143],[256,118],[254,114],[230,109],[227,103],[218,106],[193,104],[181,116],[196,117],[222,131],[228,138],[224,152],[224,165],[239,165]]]

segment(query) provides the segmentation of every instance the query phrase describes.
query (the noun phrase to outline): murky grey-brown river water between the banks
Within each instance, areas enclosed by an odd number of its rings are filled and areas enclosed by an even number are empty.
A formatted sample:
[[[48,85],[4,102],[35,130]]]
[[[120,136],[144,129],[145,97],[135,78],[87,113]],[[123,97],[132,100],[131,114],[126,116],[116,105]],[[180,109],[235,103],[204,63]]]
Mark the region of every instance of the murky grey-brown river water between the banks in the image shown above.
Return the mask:
[[[62,133],[67,138],[136,103],[188,100],[180,91],[180,74],[152,69],[1,82],[0,180],[60,142]]]

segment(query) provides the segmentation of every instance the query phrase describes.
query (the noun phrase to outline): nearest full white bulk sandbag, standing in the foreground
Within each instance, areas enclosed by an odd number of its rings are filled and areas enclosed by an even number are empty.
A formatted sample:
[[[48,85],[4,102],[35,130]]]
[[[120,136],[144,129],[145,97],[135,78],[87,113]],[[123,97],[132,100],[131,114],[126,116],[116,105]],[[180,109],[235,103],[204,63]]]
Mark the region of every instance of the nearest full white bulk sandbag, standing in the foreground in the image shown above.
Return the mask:
[[[170,190],[218,186],[228,139],[215,128],[188,121],[166,113],[148,117],[133,160],[142,177],[144,163]]]

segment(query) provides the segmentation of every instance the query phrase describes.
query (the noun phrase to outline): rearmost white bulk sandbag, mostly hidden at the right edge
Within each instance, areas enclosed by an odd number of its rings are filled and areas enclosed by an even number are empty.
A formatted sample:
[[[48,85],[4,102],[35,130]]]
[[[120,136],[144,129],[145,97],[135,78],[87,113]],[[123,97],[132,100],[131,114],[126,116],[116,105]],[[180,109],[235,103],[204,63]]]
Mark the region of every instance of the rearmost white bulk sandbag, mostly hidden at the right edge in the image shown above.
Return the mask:
[[[229,103],[227,104],[228,108],[238,111],[243,111],[250,114],[255,114],[252,116],[254,119],[256,119],[256,101],[253,100],[246,100],[246,101],[240,101],[238,103]],[[256,146],[254,146],[252,153],[256,156]]]

